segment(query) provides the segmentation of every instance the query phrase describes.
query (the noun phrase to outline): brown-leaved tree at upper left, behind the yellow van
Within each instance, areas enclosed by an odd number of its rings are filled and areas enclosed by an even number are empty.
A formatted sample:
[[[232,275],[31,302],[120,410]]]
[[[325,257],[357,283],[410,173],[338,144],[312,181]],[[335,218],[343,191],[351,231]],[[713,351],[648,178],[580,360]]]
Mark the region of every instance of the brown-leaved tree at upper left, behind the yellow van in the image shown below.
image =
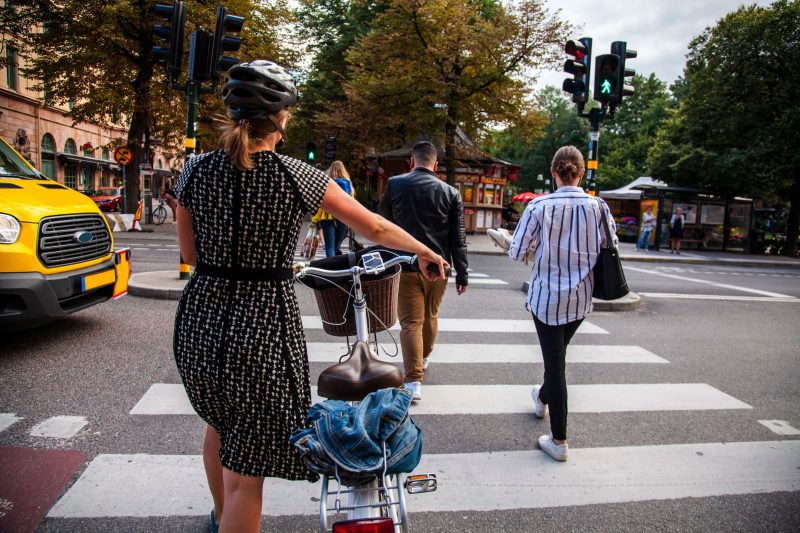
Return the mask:
[[[47,87],[54,104],[74,102],[69,116],[75,123],[110,126],[115,117],[126,118],[125,144],[134,151],[126,168],[128,212],[139,198],[143,137],[160,139],[178,150],[185,121],[183,97],[167,85],[164,69],[152,55],[152,25],[159,22],[153,4],[152,0],[14,0],[13,8],[0,14],[0,25],[22,44],[17,48],[28,60],[26,75],[39,80],[34,88]],[[248,47],[258,55],[279,51],[274,28],[288,13],[283,2],[269,7],[232,0],[227,7],[245,17],[243,52]],[[213,31],[213,5],[190,0],[187,12],[187,41],[195,27]],[[248,19],[262,22],[251,24],[251,29]]]

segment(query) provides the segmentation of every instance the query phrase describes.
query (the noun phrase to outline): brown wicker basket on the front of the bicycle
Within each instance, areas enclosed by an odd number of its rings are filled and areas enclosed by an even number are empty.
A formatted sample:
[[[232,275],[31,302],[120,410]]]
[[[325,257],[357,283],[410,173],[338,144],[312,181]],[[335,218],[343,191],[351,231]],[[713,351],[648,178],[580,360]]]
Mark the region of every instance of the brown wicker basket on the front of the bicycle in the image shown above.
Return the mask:
[[[381,279],[361,280],[364,299],[367,301],[367,320],[369,332],[376,333],[389,329],[397,322],[397,292],[400,289],[400,267]],[[314,289],[322,329],[334,337],[352,337],[356,334],[355,312],[353,311],[352,283],[339,287]]]

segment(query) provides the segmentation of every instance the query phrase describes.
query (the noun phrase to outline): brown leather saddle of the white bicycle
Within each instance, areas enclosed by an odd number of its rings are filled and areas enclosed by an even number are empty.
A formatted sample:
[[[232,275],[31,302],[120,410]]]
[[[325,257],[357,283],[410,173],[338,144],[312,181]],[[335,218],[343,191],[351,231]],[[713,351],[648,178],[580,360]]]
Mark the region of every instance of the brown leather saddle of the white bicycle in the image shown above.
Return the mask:
[[[371,392],[402,384],[402,370],[379,361],[366,342],[358,341],[347,360],[322,371],[317,379],[317,392],[324,398],[356,402]]]

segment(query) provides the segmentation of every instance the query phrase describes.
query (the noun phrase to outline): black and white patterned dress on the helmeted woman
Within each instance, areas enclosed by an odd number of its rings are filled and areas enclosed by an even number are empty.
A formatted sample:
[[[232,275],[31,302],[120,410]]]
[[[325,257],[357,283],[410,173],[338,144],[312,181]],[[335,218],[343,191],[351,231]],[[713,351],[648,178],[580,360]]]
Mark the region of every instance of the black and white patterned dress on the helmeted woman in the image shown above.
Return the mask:
[[[264,151],[239,171],[221,150],[186,164],[175,188],[194,219],[197,260],[222,269],[290,267],[305,213],[328,178]],[[195,274],[175,317],[175,361],[197,413],[220,435],[222,465],[249,476],[315,476],[289,444],[311,406],[293,282]]]

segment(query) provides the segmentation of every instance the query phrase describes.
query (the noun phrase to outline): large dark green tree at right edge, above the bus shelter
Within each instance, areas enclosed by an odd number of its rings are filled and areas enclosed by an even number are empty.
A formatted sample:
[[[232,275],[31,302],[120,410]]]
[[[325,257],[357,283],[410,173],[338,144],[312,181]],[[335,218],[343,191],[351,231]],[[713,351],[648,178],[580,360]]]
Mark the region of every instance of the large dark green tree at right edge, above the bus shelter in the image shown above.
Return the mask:
[[[692,40],[677,110],[650,151],[654,176],[724,195],[787,189],[784,253],[800,229],[800,1],[744,6]]]

